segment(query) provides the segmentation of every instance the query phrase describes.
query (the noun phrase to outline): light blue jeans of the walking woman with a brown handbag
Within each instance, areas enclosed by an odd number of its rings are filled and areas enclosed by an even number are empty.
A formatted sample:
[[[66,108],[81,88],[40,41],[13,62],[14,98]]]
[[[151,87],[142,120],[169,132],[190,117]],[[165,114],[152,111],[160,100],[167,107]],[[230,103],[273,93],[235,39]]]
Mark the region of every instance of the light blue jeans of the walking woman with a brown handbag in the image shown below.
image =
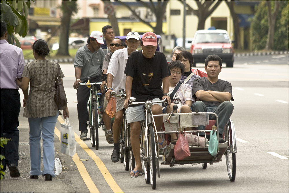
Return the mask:
[[[29,144],[30,144],[30,175],[54,173],[54,128],[57,122],[58,112],[55,116],[28,118],[29,123]],[[40,139],[42,137],[43,147],[43,172],[41,172],[41,148]]]

